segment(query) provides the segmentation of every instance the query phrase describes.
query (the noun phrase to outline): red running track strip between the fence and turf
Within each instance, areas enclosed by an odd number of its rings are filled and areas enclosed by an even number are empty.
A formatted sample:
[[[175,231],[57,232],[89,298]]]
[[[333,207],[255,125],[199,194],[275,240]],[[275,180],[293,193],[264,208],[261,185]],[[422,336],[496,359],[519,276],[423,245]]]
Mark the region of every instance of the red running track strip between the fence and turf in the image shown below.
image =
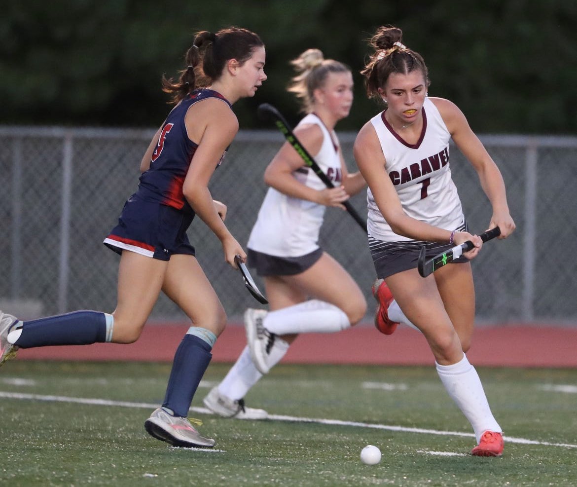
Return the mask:
[[[148,324],[136,343],[40,347],[18,351],[17,359],[171,362],[189,325]],[[213,361],[234,362],[246,344],[242,325],[229,324],[212,350]],[[577,327],[549,324],[480,326],[467,357],[474,365],[508,367],[577,367]],[[358,325],[335,334],[297,338],[282,363],[432,365],[424,336],[399,327],[381,335],[372,325]]]

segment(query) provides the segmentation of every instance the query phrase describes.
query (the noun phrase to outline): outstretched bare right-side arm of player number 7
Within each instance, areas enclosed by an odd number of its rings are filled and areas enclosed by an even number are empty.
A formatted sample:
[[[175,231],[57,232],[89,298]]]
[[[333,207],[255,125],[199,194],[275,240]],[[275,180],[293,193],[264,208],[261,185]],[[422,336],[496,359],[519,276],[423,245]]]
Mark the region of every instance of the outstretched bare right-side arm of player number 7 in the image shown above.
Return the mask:
[[[449,100],[433,98],[432,102],[439,108],[455,144],[477,171],[481,187],[493,208],[489,228],[498,226],[501,230],[499,238],[507,238],[515,230],[515,222],[509,213],[501,171],[471,130],[463,112]]]

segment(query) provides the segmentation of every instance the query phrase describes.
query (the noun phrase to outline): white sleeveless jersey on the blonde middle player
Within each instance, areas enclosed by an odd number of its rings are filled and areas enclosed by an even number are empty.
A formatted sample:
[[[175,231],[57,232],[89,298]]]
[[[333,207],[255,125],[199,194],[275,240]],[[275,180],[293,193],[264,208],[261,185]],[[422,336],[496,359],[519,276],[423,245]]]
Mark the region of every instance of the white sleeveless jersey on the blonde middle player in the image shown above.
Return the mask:
[[[323,131],[323,144],[320,151],[311,154],[335,186],[342,181],[340,151],[336,134],[329,133],[317,115],[308,114],[298,125],[314,123]],[[295,178],[309,188],[326,188],[313,170],[306,166],[293,172]],[[326,207],[280,193],[269,188],[258,218],[250,233],[248,248],[276,257],[299,257],[319,248],[320,227],[323,224]]]

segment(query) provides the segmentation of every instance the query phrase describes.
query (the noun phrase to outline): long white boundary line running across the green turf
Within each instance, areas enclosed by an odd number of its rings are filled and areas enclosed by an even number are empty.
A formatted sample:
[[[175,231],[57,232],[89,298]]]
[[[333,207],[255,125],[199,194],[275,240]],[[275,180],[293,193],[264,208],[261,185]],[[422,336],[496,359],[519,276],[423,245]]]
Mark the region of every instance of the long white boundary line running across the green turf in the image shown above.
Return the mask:
[[[68,402],[76,404],[91,404],[96,406],[120,406],[120,407],[136,407],[140,409],[156,409],[158,404],[151,403],[141,403],[141,402],[126,402],[126,401],[113,401],[108,399],[91,399],[91,398],[71,398],[69,396],[53,396],[53,395],[42,395],[42,394],[22,394],[20,392],[3,392],[0,391],[0,398],[6,399],[24,399],[24,400],[39,400],[48,402]],[[192,407],[190,408],[195,413],[202,414],[213,414],[212,411],[204,407]],[[436,429],[423,429],[423,428],[407,428],[406,426],[391,426],[391,425],[379,425],[371,423],[361,423],[357,421],[342,421],[340,419],[323,419],[323,418],[300,418],[296,416],[286,416],[282,414],[269,414],[269,421],[291,421],[295,423],[316,423],[321,425],[334,425],[334,426],[353,426],[355,428],[370,428],[370,429],[381,429],[387,431],[396,431],[404,433],[423,433],[423,434],[438,434],[442,436],[463,436],[463,437],[474,437],[473,433],[463,433],[458,431],[440,431]],[[245,420],[246,421],[246,420]],[[527,440],[524,438],[515,438],[512,436],[504,436],[505,441],[508,443],[520,443],[524,445],[544,445],[548,447],[564,447],[564,448],[577,448],[577,444],[571,443],[551,443],[550,441],[537,441],[537,440]],[[204,449],[202,449],[204,451]]]

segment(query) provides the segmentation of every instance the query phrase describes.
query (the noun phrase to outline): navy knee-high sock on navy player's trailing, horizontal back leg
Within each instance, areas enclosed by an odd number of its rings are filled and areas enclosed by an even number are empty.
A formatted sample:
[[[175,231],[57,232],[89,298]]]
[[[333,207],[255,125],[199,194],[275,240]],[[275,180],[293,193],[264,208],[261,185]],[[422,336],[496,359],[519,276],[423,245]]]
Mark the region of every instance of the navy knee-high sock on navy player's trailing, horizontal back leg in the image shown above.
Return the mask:
[[[88,345],[106,342],[106,315],[98,311],[74,311],[24,321],[15,345],[21,349],[47,345]]]

